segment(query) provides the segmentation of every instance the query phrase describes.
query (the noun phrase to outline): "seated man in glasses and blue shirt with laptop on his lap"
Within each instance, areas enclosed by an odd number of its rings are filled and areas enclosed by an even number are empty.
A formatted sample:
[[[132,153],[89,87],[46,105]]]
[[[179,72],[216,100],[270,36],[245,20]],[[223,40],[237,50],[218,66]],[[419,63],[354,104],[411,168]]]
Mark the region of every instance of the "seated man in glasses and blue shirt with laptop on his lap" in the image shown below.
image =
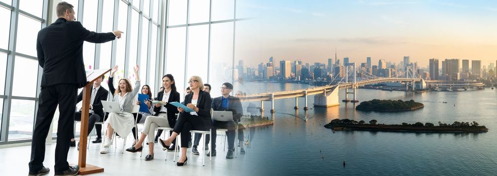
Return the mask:
[[[224,82],[221,86],[221,97],[214,98],[212,101],[212,109],[214,110],[212,121],[212,148],[207,155],[216,156],[216,130],[218,128],[228,129],[226,136],[228,137],[228,152],[226,153],[226,159],[233,158],[234,141],[235,141],[235,130],[236,125],[240,122],[240,117],[243,114],[243,109],[241,107],[240,99],[237,97],[230,96],[229,94],[233,90],[233,84],[229,82]],[[216,111],[230,111],[226,112],[216,112]],[[229,119],[222,119],[229,118]],[[222,120],[222,121],[220,121]],[[241,137],[241,138],[240,138]],[[238,140],[240,144],[240,154],[245,154],[243,150],[243,130],[238,130]],[[208,142],[207,142],[208,143]]]

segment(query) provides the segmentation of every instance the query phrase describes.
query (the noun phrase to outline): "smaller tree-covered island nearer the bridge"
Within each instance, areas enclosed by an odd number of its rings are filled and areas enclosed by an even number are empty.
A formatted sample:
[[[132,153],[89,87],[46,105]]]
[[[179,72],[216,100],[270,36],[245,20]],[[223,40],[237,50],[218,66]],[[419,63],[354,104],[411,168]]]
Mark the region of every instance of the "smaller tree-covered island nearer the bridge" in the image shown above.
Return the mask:
[[[413,111],[417,109],[424,108],[425,105],[422,103],[402,100],[378,100],[374,99],[371,101],[361,102],[356,107],[356,110],[361,111],[380,111],[380,112],[392,112],[392,111]]]

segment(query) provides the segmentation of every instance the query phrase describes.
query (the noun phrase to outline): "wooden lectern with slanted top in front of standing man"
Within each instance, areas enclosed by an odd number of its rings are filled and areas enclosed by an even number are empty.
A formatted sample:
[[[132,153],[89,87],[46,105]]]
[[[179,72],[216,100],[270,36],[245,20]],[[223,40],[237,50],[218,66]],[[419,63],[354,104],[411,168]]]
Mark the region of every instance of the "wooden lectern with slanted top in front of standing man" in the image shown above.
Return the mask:
[[[104,172],[104,168],[87,164],[87,143],[88,143],[88,114],[90,111],[90,99],[92,98],[93,81],[101,77],[111,69],[99,69],[87,72],[87,80],[89,81],[83,87],[83,103],[81,108],[81,133],[79,136],[79,173],[86,175],[91,173]],[[102,117],[104,118],[104,117]]]

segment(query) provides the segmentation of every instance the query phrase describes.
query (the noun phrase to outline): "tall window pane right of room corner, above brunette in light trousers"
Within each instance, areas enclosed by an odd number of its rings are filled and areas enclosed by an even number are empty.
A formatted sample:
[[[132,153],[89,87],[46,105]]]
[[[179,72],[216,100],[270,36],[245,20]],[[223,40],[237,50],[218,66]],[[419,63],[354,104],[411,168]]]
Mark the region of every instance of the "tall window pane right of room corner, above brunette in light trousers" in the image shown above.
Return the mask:
[[[167,42],[165,73],[174,76],[176,88],[181,97],[184,97],[186,27],[169,28]]]

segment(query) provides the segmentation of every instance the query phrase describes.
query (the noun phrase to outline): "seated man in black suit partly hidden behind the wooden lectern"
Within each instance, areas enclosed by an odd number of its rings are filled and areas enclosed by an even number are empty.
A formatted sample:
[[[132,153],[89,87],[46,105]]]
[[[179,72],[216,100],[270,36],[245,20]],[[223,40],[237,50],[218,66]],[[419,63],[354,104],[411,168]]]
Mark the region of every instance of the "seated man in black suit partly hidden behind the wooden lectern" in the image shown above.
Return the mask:
[[[102,101],[106,101],[107,97],[109,97],[109,91],[107,91],[104,87],[100,86],[102,81],[104,80],[104,76],[98,78],[93,81],[93,89],[90,97],[90,112],[89,112],[89,123],[88,123],[88,134],[92,132],[93,126],[97,121],[102,122],[104,119],[104,110],[102,106]],[[76,103],[81,102],[83,99],[83,92],[77,95]],[[81,111],[78,111],[74,114],[75,121],[81,121]],[[102,142],[102,125],[100,125],[100,129],[97,128],[97,139],[93,141],[93,143]],[[74,142],[74,134],[71,139],[71,146],[76,146]]]

